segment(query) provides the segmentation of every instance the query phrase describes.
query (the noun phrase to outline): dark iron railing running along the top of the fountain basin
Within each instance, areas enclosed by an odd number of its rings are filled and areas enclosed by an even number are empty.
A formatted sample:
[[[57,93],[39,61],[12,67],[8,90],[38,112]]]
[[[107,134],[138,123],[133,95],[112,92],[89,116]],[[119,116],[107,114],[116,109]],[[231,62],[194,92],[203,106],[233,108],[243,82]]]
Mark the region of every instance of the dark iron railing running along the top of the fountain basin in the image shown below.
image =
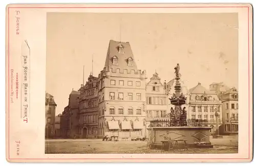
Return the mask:
[[[171,120],[154,120],[150,121],[150,125],[148,127],[172,127],[172,126],[193,126],[193,127],[205,127],[208,126],[207,120],[202,119],[187,119],[186,121],[175,121]]]

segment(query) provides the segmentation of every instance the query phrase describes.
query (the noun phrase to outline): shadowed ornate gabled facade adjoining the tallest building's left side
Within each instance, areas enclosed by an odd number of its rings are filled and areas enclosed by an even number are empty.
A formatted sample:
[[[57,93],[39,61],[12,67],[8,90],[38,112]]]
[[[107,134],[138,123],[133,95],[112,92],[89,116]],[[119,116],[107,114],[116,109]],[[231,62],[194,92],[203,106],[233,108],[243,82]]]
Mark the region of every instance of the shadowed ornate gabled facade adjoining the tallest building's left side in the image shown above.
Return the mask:
[[[82,138],[98,137],[98,78],[89,76],[81,85],[79,96],[79,134]]]

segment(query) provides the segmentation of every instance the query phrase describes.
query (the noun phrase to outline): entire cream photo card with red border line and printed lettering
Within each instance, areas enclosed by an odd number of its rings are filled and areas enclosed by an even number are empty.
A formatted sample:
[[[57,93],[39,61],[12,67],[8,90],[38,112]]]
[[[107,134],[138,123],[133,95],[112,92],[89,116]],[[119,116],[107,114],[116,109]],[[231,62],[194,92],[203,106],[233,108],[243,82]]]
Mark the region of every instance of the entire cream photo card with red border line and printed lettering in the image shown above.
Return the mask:
[[[251,160],[250,5],[21,7],[8,8],[14,162]]]

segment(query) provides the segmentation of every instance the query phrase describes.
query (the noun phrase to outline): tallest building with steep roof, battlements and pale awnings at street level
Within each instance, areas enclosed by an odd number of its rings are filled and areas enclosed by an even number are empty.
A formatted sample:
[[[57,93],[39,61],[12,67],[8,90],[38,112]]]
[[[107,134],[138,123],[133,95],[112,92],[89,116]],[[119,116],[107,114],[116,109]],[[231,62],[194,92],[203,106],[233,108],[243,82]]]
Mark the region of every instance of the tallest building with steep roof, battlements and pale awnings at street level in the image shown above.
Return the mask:
[[[99,74],[99,136],[144,137],[146,73],[137,69],[129,42],[110,40]]]

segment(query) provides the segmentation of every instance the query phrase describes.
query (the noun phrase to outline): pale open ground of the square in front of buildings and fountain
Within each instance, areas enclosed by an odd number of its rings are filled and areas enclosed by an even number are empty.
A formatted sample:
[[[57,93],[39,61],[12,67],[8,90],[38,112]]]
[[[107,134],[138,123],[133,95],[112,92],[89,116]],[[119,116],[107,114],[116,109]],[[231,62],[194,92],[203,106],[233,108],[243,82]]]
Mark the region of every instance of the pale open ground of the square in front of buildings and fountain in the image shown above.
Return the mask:
[[[238,136],[212,139],[214,148],[187,151],[152,150],[146,141],[102,141],[102,139],[47,139],[46,153],[238,153]]]

